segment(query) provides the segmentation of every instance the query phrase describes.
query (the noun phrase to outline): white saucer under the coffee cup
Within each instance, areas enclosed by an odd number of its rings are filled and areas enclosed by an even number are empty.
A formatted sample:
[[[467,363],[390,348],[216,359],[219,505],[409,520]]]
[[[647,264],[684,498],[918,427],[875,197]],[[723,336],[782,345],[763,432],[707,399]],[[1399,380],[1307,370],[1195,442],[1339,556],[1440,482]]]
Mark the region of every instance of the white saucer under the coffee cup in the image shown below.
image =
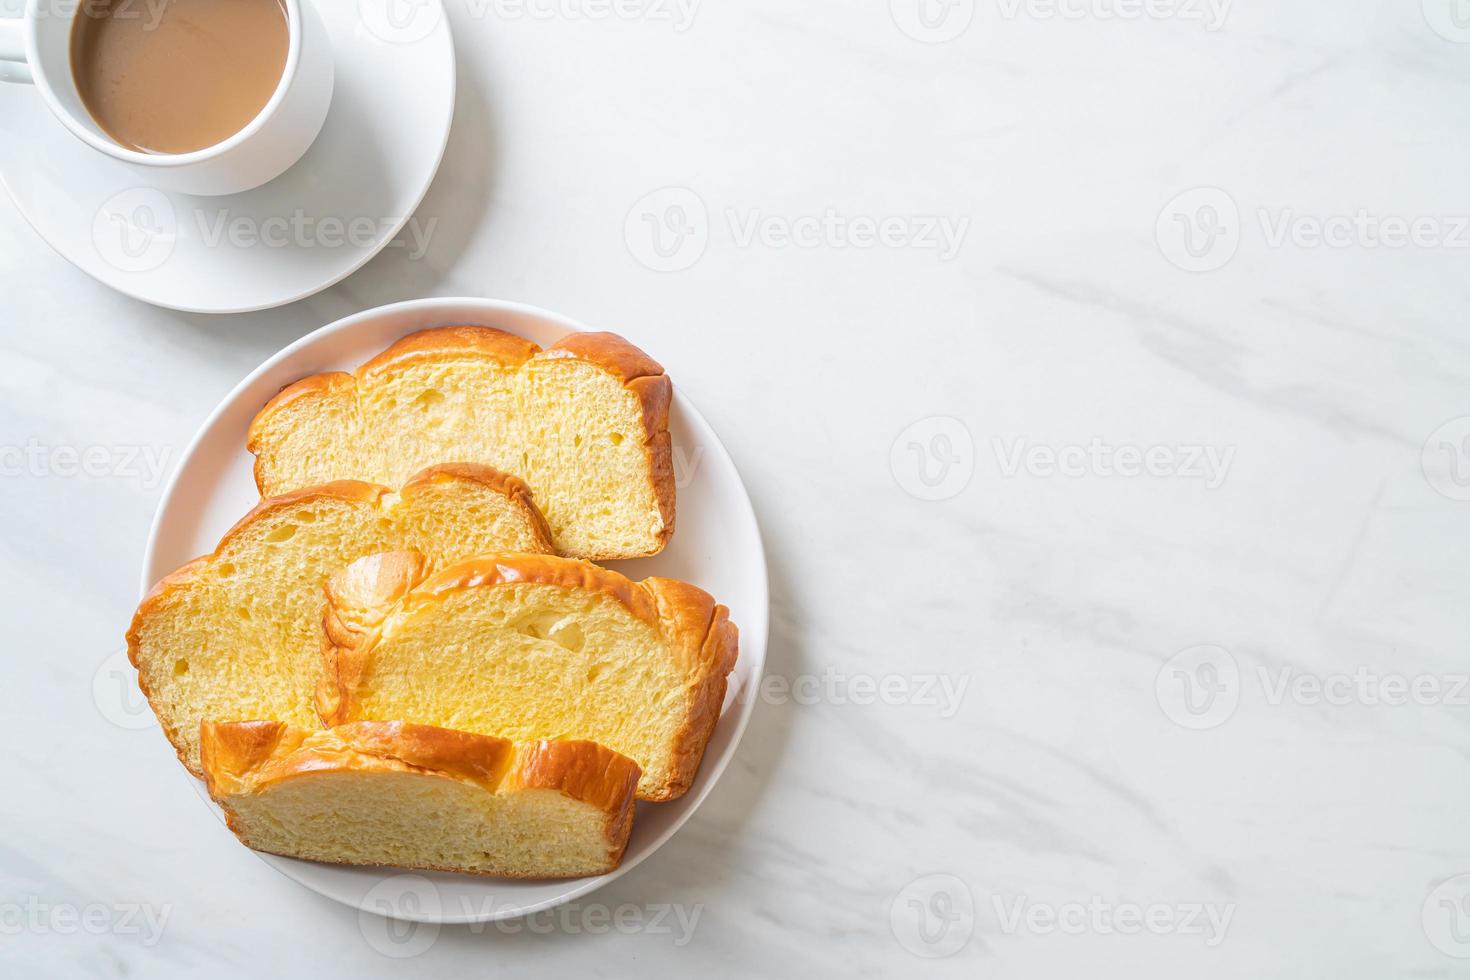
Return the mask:
[[[309,297],[394,241],[448,141],[448,19],[440,0],[419,0],[404,29],[395,6],[316,0],[337,59],[332,107],[306,156],[263,187],[231,197],[144,187],[19,84],[0,84],[0,182],[57,253],[146,303],[243,313]],[[403,247],[425,228],[404,229]]]

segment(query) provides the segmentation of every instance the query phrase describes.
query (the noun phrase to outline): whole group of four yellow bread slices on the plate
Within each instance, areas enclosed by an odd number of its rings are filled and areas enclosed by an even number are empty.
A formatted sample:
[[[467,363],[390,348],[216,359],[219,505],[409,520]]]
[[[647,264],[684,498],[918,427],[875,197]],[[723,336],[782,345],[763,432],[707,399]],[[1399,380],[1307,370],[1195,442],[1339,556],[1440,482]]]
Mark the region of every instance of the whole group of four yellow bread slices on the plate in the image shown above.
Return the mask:
[[[612,334],[413,334],[250,426],[262,500],[128,630],[179,760],[248,846],[600,874],[689,789],[723,605],[594,561],[673,533],[663,369]]]

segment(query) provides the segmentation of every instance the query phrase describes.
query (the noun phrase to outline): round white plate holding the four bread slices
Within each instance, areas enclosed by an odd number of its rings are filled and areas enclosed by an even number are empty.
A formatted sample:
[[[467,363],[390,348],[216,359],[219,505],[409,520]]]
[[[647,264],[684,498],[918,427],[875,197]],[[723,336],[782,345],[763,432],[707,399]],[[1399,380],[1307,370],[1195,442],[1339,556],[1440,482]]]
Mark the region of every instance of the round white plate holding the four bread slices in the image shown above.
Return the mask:
[[[351,370],[404,334],[457,323],[495,326],[542,347],[584,329],[566,317],[514,303],[416,300],[350,316],[287,347],[229,392],[194,436],[153,520],[141,589],[146,592],[175,567],[213,551],[220,535],[254,505],[254,457],[244,448],[245,428],[281,386],[322,370]],[[587,895],[637,867],[684,826],[725,771],[750,720],[756,704],[750,695],[757,691],[766,663],[769,607],[766,557],[750,498],[725,447],[678,388],[670,430],[679,485],[673,539],[654,558],[609,566],[635,579],[662,574],[694,582],[711,592],[729,605],[731,619],[739,626],[739,658],[698,779],[688,793],[673,802],[638,804],[622,865],[612,874],[589,879],[513,882],[335,867],[262,855],[265,861],[313,892],[365,911],[415,921],[494,921]],[[166,746],[159,748],[166,751]],[[193,777],[190,780],[210,802],[203,785]],[[240,845],[222,830],[219,846]]]

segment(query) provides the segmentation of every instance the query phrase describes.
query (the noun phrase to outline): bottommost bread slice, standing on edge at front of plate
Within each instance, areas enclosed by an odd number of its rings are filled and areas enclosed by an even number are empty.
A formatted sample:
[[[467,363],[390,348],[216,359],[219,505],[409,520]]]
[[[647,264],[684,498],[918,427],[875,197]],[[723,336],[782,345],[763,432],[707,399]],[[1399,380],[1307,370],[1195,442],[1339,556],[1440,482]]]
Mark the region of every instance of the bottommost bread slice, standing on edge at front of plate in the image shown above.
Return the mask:
[[[209,795],[247,846],[290,858],[579,877],[622,861],[638,765],[592,742],[365,721],[206,721]]]

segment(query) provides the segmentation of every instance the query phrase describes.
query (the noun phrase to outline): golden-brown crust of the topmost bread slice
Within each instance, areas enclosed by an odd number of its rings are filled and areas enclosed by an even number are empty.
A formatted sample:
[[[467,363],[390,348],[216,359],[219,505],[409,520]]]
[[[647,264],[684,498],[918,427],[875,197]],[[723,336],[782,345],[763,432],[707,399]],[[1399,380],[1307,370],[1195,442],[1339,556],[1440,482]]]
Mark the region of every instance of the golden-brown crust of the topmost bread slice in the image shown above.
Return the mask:
[[[648,457],[653,495],[662,523],[654,548],[647,555],[663,551],[673,535],[678,498],[673,473],[673,442],[669,435],[669,406],[673,400],[673,383],[659,361],[648,357],[648,354],[625,338],[607,332],[569,334],[542,350],[532,341],[490,326],[440,326],[409,334],[353,373],[331,372],[303,378],[282,388],[250,422],[245,448],[256,457],[256,489],[262,494],[266,492],[262,455],[263,432],[269,426],[272,416],[282,408],[303,398],[345,398],[356,401],[357,382],[362,378],[390,372],[413,361],[453,361],[466,357],[492,360],[510,369],[519,369],[532,360],[575,359],[620,379],[639,406],[644,450]],[[647,555],[588,554],[584,557],[594,561],[604,561]]]

